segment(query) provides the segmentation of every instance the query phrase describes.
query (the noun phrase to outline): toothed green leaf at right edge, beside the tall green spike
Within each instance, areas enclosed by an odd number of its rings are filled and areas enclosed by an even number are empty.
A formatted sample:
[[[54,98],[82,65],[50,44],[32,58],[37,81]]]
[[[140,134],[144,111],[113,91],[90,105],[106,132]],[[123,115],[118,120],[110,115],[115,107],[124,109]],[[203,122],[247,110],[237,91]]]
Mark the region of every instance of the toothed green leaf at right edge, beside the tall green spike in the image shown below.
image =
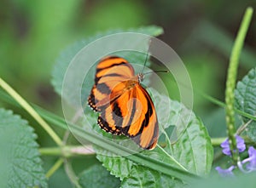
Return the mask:
[[[253,116],[256,115],[256,68],[253,68],[236,84],[235,106]],[[248,122],[247,117],[242,117],[243,122]],[[251,122],[246,129],[246,134],[256,141],[256,122]]]

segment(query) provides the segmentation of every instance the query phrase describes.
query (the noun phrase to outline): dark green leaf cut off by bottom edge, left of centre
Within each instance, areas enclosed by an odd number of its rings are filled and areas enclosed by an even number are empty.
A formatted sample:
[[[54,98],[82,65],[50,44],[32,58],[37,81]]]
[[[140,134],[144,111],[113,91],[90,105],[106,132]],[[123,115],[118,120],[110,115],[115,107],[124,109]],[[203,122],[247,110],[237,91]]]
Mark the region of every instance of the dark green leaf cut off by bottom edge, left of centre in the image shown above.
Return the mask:
[[[96,164],[84,170],[79,175],[79,184],[85,187],[101,187],[101,188],[115,188],[119,187],[120,181],[113,175],[110,175],[106,168],[102,165]]]

